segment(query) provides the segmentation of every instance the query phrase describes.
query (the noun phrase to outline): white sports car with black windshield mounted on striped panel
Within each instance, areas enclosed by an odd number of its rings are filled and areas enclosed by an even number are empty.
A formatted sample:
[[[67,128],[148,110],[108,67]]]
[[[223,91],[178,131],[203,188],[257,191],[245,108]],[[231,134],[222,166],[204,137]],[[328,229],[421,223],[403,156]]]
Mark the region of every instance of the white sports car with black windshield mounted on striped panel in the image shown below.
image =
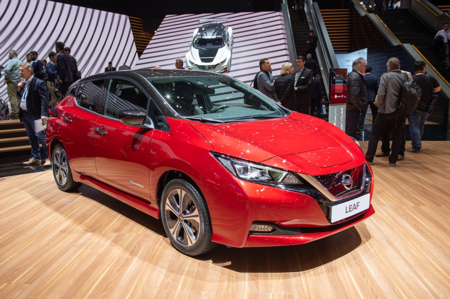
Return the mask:
[[[206,24],[194,30],[191,48],[186,53],[190,70],[223,73],[231,67],[233,29],[223,24]]]

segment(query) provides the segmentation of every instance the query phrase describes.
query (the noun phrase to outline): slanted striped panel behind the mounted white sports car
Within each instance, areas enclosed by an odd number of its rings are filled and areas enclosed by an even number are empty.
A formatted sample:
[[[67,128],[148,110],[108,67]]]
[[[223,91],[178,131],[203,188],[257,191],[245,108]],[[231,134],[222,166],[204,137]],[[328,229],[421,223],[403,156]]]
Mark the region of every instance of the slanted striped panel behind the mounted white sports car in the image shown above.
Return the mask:
[[[194,29],[201,18],[227,18],[220,23],[233,29],[231,68],[227,73],[249,84],[259,71],[259,60],[269,58],[273,75],[289,59],[284,21],[281,12],[240,12],[167,15],[155,36],[141,55],[136,68],[160,65],[175,68],[175,60],[183,59],[192,41]]]

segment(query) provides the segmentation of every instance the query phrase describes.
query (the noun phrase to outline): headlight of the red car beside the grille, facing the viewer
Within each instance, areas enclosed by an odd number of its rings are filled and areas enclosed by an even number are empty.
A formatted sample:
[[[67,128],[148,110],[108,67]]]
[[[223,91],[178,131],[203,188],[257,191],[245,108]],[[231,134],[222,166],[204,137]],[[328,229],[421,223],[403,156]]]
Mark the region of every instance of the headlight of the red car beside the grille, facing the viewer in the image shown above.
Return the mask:
[[[241,160],[217,152],[213,152],[213,155],[234,176],[246,181],[282,185],[302,184],[295,173],[287,170]]]

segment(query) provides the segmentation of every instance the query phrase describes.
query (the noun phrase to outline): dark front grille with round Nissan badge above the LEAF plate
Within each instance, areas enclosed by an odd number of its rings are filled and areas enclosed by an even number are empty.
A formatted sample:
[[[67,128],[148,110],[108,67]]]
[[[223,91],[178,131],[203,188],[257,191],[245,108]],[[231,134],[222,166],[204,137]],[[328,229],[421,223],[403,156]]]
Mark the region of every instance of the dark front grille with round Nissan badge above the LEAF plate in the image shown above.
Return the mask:
[[[365,168],[366,165],[363,164],[346,171],[313,177],[336,199],[342,199],[362,191],[367,175]]]

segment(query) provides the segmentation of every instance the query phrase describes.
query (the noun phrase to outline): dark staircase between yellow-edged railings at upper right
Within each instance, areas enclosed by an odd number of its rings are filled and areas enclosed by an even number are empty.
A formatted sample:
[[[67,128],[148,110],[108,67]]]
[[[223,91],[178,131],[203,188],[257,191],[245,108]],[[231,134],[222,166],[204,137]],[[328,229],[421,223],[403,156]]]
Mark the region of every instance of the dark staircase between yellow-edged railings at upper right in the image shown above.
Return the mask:
[[[430,50],[436,30],[428,28],[409,9],[393,9],[383,14],[383,22],[402,43],[414,45],[441,75],[450,81],[450,70],[445,68],[445,60],[438,61],[438,54]]]

